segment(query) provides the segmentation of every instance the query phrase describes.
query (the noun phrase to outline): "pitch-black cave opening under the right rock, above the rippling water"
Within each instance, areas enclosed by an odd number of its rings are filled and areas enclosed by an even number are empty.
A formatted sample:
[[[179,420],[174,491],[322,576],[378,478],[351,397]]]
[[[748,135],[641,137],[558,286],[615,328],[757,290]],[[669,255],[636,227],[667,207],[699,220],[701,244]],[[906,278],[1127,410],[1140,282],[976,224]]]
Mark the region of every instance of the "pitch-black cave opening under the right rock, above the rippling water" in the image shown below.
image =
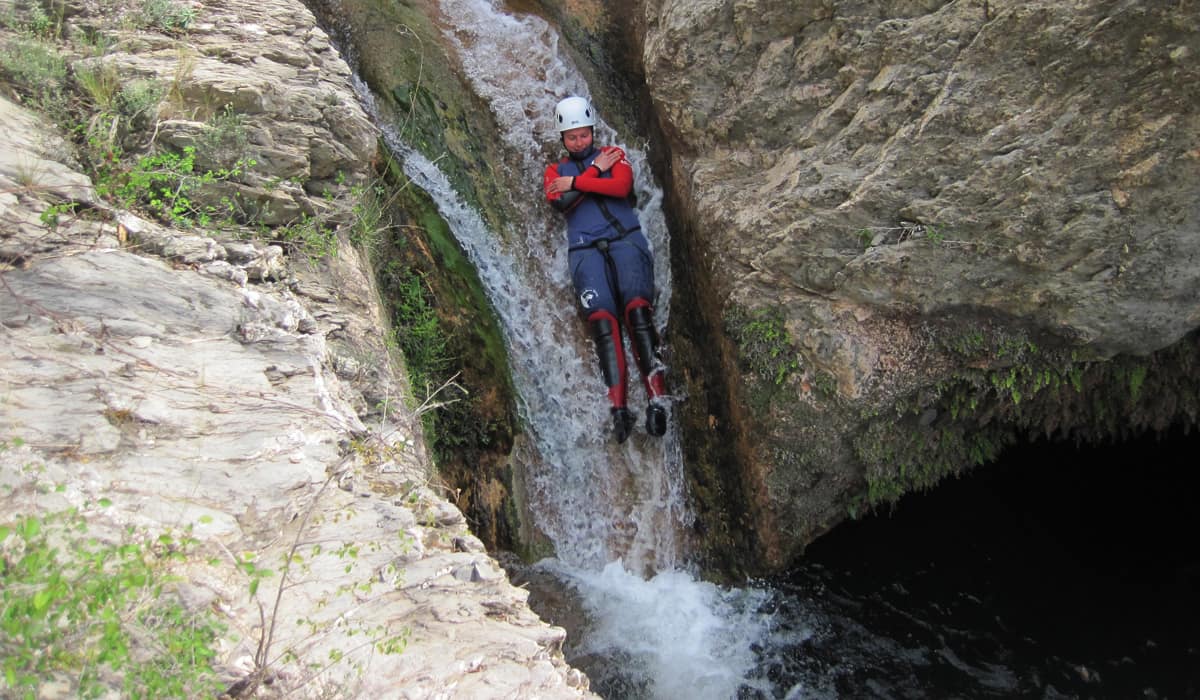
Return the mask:
[[[1061,662],[1078,677],[1056,688],[1074,696],[1200,696],[1198,455],[1200,433],[1182,430],[1026,442],[838,527],[805,567],[880,600],[869,624],[884,635],[937,618],[1007,640],[1014,668]]]

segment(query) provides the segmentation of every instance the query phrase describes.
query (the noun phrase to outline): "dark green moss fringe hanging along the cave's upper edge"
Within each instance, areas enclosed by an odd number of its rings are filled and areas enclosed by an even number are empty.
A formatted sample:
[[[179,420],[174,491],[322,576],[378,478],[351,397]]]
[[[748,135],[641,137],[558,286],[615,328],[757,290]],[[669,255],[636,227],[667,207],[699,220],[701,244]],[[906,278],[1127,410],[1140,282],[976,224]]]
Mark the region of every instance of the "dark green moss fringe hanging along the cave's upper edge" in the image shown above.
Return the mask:
[[[1020,438],[1121,439],[1200,419],[1200,349],[1188,337],[1148,358],[1081,360],[1069,349],[1007,343],[1027,364],[961,369],[896,409],[865,413],[853,448],[865,474],[848,510],[890,503],[996,460]]]

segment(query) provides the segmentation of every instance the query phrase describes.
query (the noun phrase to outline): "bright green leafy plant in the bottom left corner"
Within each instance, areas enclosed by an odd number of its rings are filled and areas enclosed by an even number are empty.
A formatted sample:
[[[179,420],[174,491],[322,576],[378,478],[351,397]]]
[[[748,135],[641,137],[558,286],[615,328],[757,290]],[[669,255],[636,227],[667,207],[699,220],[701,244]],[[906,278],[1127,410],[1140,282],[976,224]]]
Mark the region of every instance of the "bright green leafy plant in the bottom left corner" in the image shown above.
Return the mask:
[[[58,680],[80,698],[214,695],[223,628],[167,588],[191,545],[132,530],[101,542],[74,509],[0,525],[0,694],[37,698]]]

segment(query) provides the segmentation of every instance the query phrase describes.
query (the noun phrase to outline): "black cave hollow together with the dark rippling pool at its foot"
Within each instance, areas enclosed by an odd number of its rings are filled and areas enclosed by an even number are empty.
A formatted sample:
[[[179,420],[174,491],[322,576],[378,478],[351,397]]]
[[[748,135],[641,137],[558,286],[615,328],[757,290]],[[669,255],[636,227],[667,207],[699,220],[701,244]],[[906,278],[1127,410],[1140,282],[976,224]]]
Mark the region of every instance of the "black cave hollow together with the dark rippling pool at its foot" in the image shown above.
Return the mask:
[[[1014,448],[772,581],[804,641],[761,674],[787,698],[1200,698],[1198,498],[1196,435]]]

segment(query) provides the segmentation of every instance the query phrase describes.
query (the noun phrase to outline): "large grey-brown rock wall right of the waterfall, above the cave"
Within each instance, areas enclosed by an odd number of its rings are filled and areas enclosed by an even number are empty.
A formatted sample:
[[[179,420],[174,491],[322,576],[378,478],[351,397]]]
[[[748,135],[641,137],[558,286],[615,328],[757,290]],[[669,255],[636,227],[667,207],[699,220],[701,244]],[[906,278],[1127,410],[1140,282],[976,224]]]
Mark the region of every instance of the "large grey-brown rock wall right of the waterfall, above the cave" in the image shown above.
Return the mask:
[[[943,352],[954,339],[988,327],[1106,359],[1200,325],[1190,5],[647,0],[643,11],[646,85],[670,142],[677,235],[712,294],[709,330],[727,330],[734,309],[781,310],[797,354],[772,408],[742,424],[758,443],[743,466],[776,555],[865,491],[846,402],[859,415],[899,396],[919,403],[962,372],[964,358]],[[1002,355],[970,361],[1015,361]],[[749,391],[740,366],[734,401]],[[798,426],[804,406],[814,413]],[[814,420],[838,435],[816,435]],[[808,444],[785,453],[806,455],[788,466],[770,445],[802,433]]]

